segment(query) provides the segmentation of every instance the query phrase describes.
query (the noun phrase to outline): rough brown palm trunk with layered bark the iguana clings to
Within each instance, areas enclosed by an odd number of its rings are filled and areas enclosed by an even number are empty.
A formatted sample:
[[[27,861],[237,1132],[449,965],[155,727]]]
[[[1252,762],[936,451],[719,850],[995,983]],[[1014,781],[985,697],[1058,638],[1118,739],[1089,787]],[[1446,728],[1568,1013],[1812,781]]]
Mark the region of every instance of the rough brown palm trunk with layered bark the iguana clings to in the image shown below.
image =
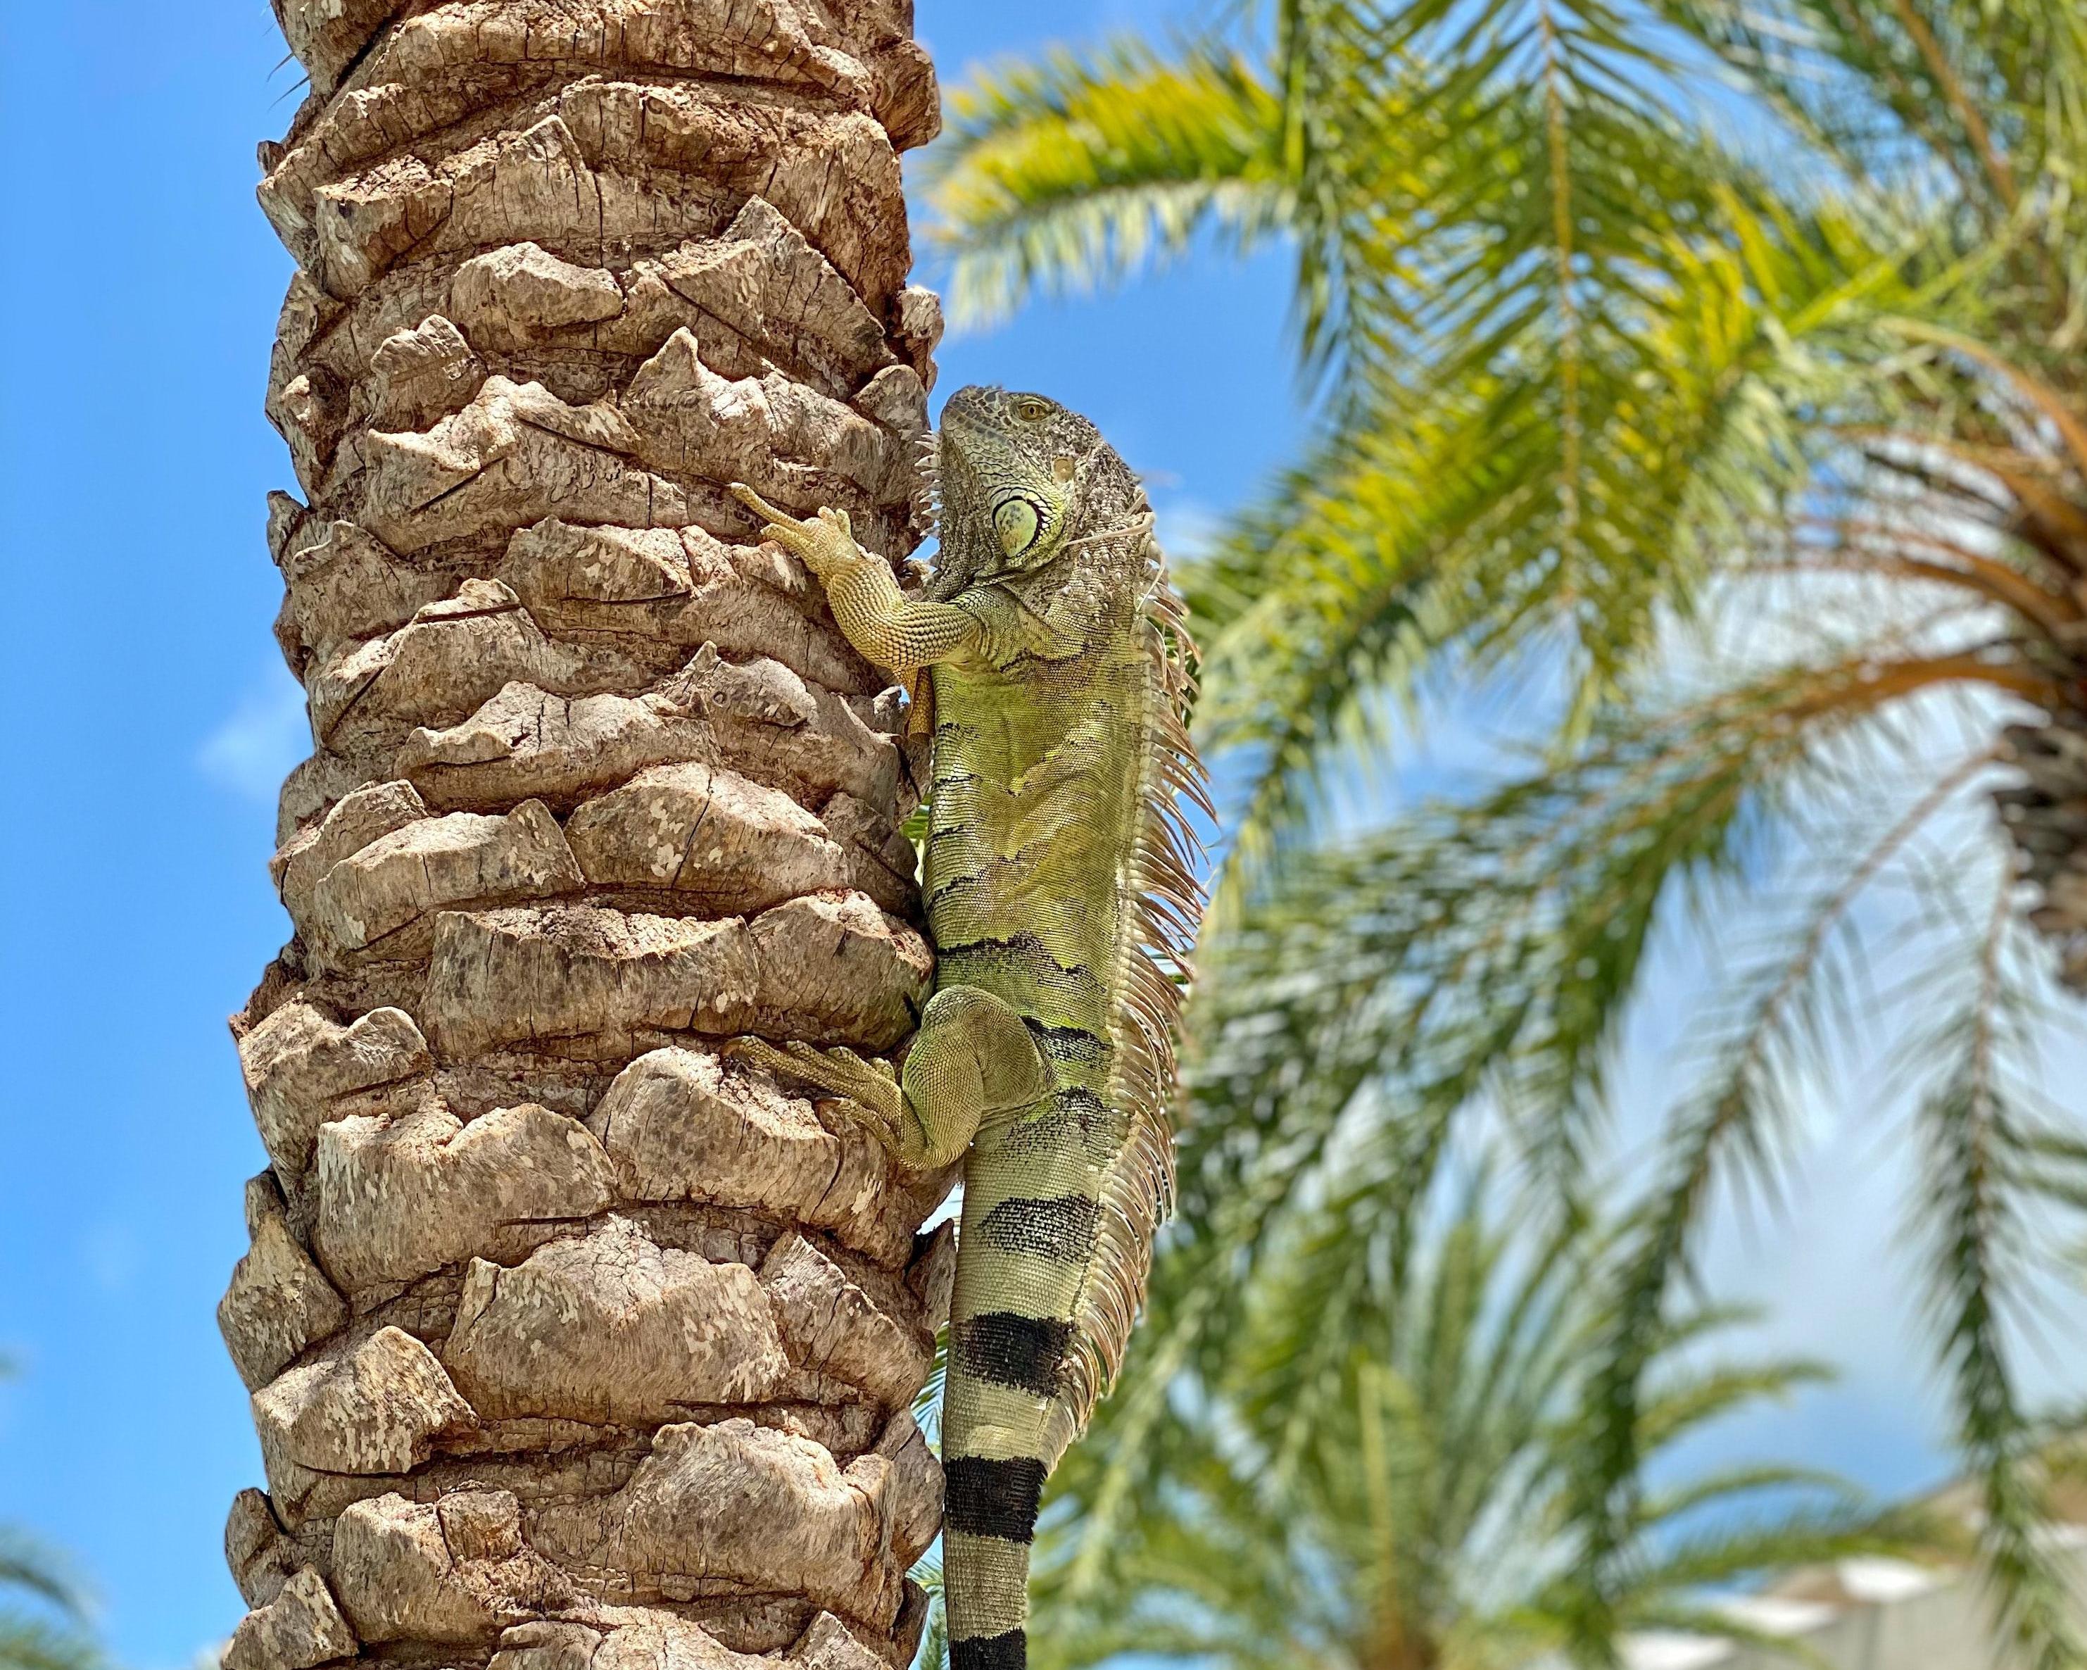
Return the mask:
[[[889,1052],[931,969],[895,695],[724,491],[918,536],[912,8],[275,10],[315,754],[234,1019],[230,1670],[904,1666],[950,1177],[720,1042]]]

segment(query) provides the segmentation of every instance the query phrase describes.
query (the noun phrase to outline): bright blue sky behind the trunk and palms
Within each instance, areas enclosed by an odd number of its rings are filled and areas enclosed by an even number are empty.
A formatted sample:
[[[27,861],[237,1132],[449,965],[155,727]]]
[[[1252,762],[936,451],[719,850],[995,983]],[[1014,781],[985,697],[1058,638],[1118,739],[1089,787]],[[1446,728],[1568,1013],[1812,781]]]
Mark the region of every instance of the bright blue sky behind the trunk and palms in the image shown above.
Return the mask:
[[[1044,40],[1031,8],[918,10],[952,81]],[[1062,0],[1052,29],[1181,10]],[[17,605],[0,662],[0,1351],[25,1369],[0,1388],[0,1520],[77,1555],[140,1670],[186,1666],[232,1628],[219,1532],[259,1478],[213,1307],[261,1167],[223,1017],[286,933],[263,866],[273,785],[305,752],[261,541],[263,495],[290,484],[261,418],[288,259],[253,205],[253,146],[296,100],[280,58],[265,0],[0,10],[0,553]],[[1185,534],[1300,434],[1284,263],[1033,309],[947,344],[943,388],[973,380],[1087,411]],[[1653,1017],[1632,1081],[1659,1088],[1672,1048]],[[1878,1265],[1903,1173],[1864,1129],[1828,1156],[1812,1211],[1766,1248],[1730,1238],[1722,1267],[1786,1301],[1778,1342],[1851,1367],[1747,1438],[1903,1488],[1937,1468],[1933,1409],[1903,1284]]]

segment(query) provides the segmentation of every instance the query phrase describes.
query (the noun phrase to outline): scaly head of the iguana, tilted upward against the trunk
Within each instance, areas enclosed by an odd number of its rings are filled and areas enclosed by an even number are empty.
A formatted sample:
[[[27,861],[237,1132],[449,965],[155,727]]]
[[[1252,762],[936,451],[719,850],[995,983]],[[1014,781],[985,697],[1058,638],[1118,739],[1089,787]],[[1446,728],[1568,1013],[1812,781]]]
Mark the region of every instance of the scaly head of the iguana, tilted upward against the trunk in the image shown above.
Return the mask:
[[[1041,568],[1087,509],[1135,493],[1102,432],[1041,395],[960,388],[941,411],[939,595]]]

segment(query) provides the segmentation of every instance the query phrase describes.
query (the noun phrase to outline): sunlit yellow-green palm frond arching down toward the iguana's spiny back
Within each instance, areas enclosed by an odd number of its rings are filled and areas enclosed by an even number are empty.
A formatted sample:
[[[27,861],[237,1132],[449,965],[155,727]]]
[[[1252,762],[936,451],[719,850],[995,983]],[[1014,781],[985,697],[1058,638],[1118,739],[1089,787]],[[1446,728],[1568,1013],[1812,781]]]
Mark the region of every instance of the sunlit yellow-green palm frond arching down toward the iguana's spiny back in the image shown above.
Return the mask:
[[[1233,850],[1248,864],[1323,820],[1323,772],[1357,741],[1382,747],[1386,697],[1534,655],[1563,674],[1565,735],[1584,737],[1674,610],[1693,612],[1734,553],[1780,543],[1789,495],[1822,445],[1841,451],[1803,413],[1860,409],[1847,361],[1905,290],[1853,221],[1772,219],[1720,169],[1693,169],[1701,213],[1749,236],[1647,240],[1642,284],[1586,321],[1569,420],[1555,340],[1488,347],[1461,382],[1436,372],[1325,443],[1190,570],[1215,624],[1200,726],[1206,752],[1246,762]],[[1567,426],[1584,453],[1569,536]]]

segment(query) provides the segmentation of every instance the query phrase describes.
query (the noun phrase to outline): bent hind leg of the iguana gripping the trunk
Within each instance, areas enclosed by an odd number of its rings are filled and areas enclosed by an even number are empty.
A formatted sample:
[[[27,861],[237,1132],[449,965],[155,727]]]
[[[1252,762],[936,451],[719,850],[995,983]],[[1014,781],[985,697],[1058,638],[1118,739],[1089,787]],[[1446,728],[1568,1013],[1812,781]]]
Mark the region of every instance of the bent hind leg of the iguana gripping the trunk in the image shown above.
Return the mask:
[[[916,1171],[941,1169],[970,1148],[987,1119],[1035,1106],[1052,1088],[1050,1063],[1023,1017],[975,985],[952,985],[929,1000],[902,1079],[854,1050],[778,1050],[760,1037],[730,1048],[854,1102],[858,1123]]]

